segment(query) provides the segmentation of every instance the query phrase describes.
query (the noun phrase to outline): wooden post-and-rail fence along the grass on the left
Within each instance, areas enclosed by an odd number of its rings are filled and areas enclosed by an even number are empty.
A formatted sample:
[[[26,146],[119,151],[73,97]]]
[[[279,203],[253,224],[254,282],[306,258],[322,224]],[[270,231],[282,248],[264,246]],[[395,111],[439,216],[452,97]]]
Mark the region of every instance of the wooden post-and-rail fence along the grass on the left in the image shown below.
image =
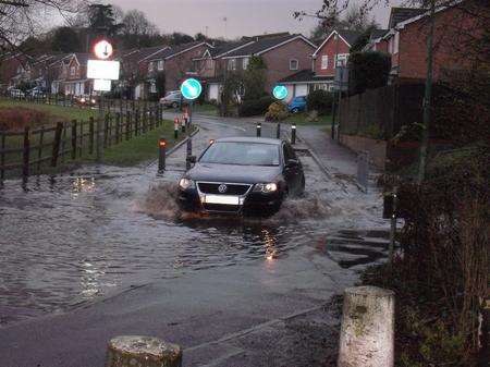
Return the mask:
[[[59,122],[56,126],[27,126],[21,132],[0,131],[0,183],[7,173],[26,179],[40,173],[44,168],[59,167],[69,159],[89,158],[96,152],[98,134],[102,136],[103,148],[107,148],[145,134],[163,122],[162,109],[158,105],[124,112],[110,110],[102,115],[103,121],[90,118],[88,121]]]

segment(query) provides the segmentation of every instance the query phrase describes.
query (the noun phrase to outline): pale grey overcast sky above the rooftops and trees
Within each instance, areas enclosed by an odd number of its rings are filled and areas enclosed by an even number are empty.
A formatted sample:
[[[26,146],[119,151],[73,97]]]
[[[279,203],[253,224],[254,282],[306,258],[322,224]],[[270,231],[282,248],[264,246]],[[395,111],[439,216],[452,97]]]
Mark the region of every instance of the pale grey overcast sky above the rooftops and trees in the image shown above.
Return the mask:
[[[353,0],[355,1],[355,0]],[[322,0],[112,0],[123,10],[146,13],[161,32],[198,32],[209,37],[236,38],[264,33],[291,32],[309,36],[314,19],[293,19],[297,10],[317,11]],[[384,2],[384,1],[382,1]],[[385,26],[389,9],[378,7],[372,15]],[[226,19],[226,22],[224,21]]]

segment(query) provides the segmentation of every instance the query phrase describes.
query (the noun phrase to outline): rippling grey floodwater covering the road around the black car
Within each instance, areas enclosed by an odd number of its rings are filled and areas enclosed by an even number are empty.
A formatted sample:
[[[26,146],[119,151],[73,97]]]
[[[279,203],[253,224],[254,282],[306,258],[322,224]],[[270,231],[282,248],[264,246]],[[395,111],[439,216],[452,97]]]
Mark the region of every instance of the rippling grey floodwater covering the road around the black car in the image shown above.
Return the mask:
[[[208,123],[194,138],[248,134]],[[269,219],[185,216],[174,204],[184,149],[156,167],[86,167],[0,189],[0,327],[70,309],[162,278],[314,246],[343,268],[385,257],[381,200],[348,182],[326,181],[302,157],[305,197]]]

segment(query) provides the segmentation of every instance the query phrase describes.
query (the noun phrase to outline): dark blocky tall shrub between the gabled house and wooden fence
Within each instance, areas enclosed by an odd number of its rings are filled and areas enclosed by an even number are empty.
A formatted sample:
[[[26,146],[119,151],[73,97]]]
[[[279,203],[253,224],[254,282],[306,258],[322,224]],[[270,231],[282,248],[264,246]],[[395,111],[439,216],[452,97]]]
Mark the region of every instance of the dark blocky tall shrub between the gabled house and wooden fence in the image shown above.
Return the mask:
[[[391,58],[379,51],[354,52],[348,59],[350,94],[385,86],[391,70]]]

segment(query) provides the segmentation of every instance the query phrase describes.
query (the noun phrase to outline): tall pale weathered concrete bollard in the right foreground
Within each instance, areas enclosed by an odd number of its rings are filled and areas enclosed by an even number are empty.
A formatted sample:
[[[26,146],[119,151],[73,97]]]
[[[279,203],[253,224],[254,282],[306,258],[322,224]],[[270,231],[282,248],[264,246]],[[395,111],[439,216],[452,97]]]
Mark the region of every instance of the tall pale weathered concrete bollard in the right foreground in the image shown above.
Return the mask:
[[[394,293],[377,286],[344,292],[338,367],[393,367]]]

